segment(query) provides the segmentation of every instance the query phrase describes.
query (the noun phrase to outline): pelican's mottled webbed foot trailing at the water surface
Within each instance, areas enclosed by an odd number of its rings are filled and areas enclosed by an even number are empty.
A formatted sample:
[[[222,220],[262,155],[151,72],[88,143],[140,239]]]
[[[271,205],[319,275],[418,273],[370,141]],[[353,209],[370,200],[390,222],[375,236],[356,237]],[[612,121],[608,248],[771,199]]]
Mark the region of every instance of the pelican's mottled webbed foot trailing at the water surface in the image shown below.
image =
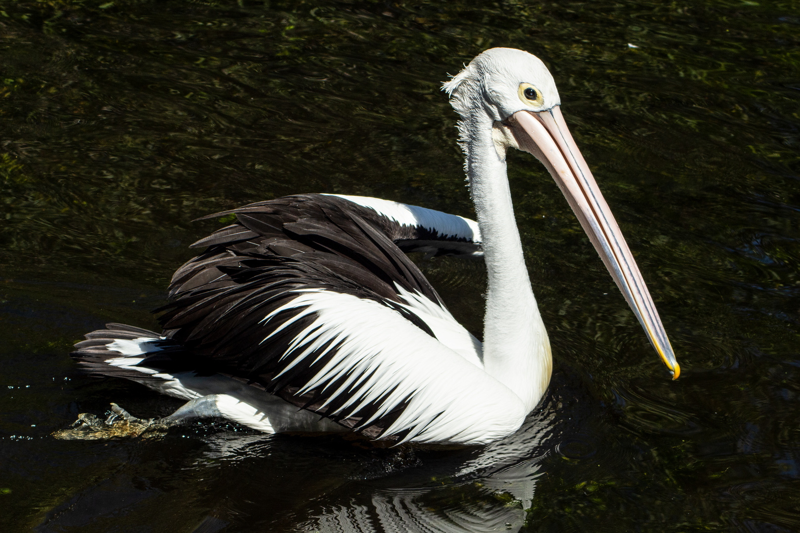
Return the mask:
[[[117,404],[111,404],[111,414],[101,420],[91,413],[81,413],[70,429],[53,432],[61,440],[104,440],[118,437],[138,437],[143,439],[163,436],[166,429],[174,423],[163,419],[142,420],[132,416]]]

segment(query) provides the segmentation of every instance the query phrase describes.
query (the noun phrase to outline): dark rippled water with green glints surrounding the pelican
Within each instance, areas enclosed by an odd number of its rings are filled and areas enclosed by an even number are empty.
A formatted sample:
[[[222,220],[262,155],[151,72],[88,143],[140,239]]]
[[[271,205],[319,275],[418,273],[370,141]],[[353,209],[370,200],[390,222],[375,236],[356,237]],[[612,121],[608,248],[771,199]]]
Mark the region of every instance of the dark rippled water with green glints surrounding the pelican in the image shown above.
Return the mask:
[[[800,530],[798,42],[796,1],[0,0],[0,530]],[[218,225],[194,218],[305,192],[470,216],[438,88],[490,46],[550,66],[680,380],[517,153],[554,353],[517,435],[50,436],[110,401],[180,404],[67,353],[106,321],[154,328],[186,246]],[[479,333],[482,265],[422,267]]]

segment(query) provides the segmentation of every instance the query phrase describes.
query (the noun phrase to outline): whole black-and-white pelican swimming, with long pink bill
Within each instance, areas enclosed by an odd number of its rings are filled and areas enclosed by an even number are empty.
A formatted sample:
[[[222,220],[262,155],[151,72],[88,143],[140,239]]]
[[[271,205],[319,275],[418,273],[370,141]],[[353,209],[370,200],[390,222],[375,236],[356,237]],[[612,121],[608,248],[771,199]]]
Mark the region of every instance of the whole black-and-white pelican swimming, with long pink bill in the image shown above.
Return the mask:
[[[175,272],[170,304],[157,310],[162,333],[106,324],[72,354],[90,375],[134,380],[188,402],[160,420],[112,404],[109,420],[82,415],[82,425],[62,436],[121,426],[138,434],[213,416],[268,433],[359,432],[395,444],[510,436],[542,399],[552,368],[514,221],[510,148],[550,171],[677,378],[650,292],[542,61],[493,48],[443,89],[461,118],[477,222],[338,194],[210,215],[232,214],[235,222],[192,245],[205,251]],[[483,257],[482,343],[454,320],[408,252]]]

